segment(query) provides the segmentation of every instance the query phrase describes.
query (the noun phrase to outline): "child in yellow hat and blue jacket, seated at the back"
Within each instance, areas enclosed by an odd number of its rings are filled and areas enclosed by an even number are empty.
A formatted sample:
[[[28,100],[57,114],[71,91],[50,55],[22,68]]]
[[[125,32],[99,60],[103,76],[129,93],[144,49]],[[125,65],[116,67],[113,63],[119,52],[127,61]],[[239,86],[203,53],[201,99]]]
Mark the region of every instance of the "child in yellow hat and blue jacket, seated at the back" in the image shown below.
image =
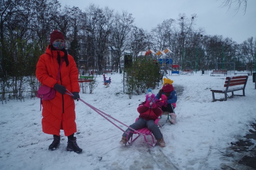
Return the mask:
[[[161,106],[163,115],[170,114],[170,123],[176,123],[177,115],[174,113],[174,108],[176,107],[177,94],[172,85],[173,80],[169,78],[163,78],[164,86],[159,90],[156,95],[156,104]]]

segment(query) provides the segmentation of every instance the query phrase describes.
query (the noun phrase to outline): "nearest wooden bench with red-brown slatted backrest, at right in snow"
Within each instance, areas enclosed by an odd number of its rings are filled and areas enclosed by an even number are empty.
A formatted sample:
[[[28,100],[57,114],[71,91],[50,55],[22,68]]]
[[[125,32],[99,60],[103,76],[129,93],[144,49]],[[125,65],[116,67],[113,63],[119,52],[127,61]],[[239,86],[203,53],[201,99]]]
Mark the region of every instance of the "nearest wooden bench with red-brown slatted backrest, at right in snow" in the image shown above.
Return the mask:
[[[235,76],[235,77],[226,77],[225,80],[225,84],[224,84],[224,88],[223,90],[211,90],[212,92],[212,102],[215,101],[226,101],[227,100],[227,96],[229,92],[232,93],[232,96],[230,96],[229,98],[233,97],[233,96],[245,96],[245,86],[246,86],[246,82],[248,80],[248,76]],[[239,86],[238,86],[239,85]],[[230,87],[232,86],[232,87]],[[238,90],[243,90],[243,95],[234,95],[234,91],[238,91]],[[215,99],[214,93],[222,93],[224,94],[225,98],[224,99]]]

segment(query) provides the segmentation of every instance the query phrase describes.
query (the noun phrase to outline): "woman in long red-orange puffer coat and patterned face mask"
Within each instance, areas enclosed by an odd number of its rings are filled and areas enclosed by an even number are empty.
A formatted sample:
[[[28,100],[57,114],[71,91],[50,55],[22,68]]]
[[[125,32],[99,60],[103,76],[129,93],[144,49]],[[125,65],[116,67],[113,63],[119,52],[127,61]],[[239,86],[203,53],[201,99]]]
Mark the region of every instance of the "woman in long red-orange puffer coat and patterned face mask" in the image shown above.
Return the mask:
[[[63,62],[63,63],[62,63]],[[60,64],[60,78],[57,81]],[[62,32],[54,30],[50,34],[50,45],[40,56],[36,65],[36,77],[41,84],[56,89],[52,100],[42,100],[42,130],[53,135],[49,150],[55,150],[60,145],[60,129],[68,137],[67,150],[81,153],[76,143],[76,112],[75,102],[80,98],[78,83],[78,68],[71,55],[65,49],[65,39]],[[65,94],[66,89],[74,95]]]

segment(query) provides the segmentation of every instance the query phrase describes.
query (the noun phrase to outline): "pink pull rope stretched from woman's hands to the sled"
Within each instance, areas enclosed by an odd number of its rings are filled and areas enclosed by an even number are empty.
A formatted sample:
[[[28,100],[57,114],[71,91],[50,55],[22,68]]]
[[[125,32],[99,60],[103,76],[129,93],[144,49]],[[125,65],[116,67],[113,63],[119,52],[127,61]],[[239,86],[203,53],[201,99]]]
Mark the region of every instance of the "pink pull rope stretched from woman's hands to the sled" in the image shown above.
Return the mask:
[[[68,95],[70,95],[70,96],[74,96],[68,89],[66,89],[66,90],[68,91],[68,93],[66,93],[66,94],[68,94]],[[124,131],[121,127],[119,127],[119,126],[116,125],[113,121],[111,121],[110,119],[108,119],[108,117],[110,117],[111,119],[117,121],[118,123],[120,123],[120,124],[122,124],[122,125],[128,127],[129,129],[132,129],[132,130],[135,131],[136,133],[145,136],[145,134],[140,133],[139,131],[136,131],[135,129],[131,128],[130,126],[128,126],[128,125],[126,125],[126,124],[124,124],[124,123],[122,123],[121,121],[115,119],[114,117],[108,115],[107,113],[104,113],[103,111],[97,109],[96,107],[94,107],[94,106],[92,106],[92,105],[90,105],[90,104],[84,102],[84,100],[82,100],[82,99],[80,99],[80,98],[78,98],[78,100],[80,100],[81,102],[83,102],[84,104],[86,104],[87,106],[89,106],[91,109],[93,109],[94,111],[96,111],[99,115],[101,115],[102,117],[104,117],[105,119],[107,119],[110,123],[112,123],[113,125],[115,125],[118,129],[120,129],[121,131],[123,131],[123,132],[126,133],[127,135],[129,135],[128,132]],[[103,114],[106,115],[107,117],[104,116]]]

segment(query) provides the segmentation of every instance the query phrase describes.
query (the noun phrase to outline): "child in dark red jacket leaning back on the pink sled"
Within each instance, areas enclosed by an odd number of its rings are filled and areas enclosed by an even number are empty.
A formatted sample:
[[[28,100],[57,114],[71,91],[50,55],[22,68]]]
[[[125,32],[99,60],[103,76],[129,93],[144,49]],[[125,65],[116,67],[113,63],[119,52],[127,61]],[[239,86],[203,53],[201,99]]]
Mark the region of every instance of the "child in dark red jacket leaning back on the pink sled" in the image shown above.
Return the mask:
[[[152,131],[154,137],[157,140],[157,144],[160,147],[164,147],[165,142],[163,135],[158,126],[155,124],[155,120],[162,115],[162,110],[156,105],[155,100],[155,95],[152,94],[152,90],[148,89],[146,101],[141,103],[137,108],[137,111],[140,113],[139,119],[135,123],[130,125],[130,127],[135,130],[147,127],[150,131]],[[120,141],[121,145],[125,146],[126,143],[129,141],[130,137],[132,136],[132,133],[130,133],[132,129],[126,129],[126,132],[129,133],[128,137],[126,133],[123,133],[122,139]]]

